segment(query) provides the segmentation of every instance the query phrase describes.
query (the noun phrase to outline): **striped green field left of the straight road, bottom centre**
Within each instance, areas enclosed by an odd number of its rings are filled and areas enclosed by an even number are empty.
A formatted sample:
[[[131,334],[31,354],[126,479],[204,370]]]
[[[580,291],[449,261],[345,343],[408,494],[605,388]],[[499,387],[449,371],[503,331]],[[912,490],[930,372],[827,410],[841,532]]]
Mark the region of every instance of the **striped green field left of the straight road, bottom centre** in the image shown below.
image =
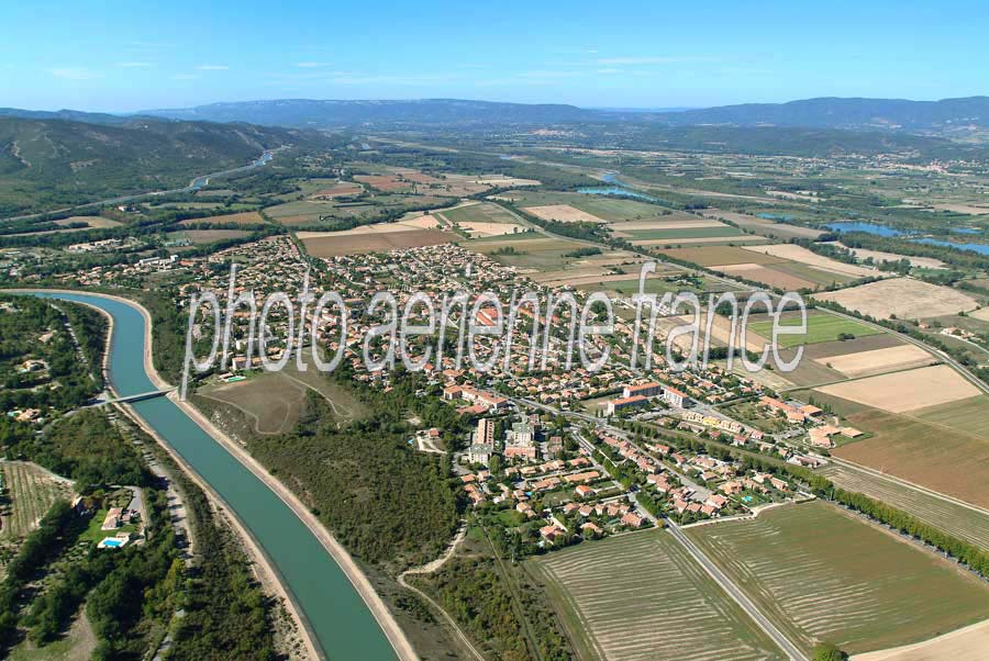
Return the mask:
[[[526,565],[584,659],[785,658],[665,530],[582,544]]]

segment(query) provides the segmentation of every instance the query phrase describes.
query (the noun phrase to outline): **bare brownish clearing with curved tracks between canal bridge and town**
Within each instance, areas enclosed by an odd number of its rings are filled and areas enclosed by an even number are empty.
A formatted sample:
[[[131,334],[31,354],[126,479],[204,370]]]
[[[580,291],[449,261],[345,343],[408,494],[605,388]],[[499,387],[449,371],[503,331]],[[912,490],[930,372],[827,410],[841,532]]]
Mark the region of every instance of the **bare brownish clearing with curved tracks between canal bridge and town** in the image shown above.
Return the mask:
[[[291,362],[280,372],[263,372],[246,381],[211,385],[199,394],[241,411],[252,421],[255,433],[274,435],[290,430],[299,422],[309,391],[323,395],[341,422],[364,414],[362,404],[346,390],[314,368],[300,372]]]

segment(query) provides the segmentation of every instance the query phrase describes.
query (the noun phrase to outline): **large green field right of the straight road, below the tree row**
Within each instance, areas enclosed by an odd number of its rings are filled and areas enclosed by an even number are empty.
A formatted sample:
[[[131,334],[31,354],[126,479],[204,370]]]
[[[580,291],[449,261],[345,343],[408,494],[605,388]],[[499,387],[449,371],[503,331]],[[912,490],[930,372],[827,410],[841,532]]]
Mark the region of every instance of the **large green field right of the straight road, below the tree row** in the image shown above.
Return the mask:
[[[791,640],[864,652],[989,617],[989,587],[823,502],[686,530]]]

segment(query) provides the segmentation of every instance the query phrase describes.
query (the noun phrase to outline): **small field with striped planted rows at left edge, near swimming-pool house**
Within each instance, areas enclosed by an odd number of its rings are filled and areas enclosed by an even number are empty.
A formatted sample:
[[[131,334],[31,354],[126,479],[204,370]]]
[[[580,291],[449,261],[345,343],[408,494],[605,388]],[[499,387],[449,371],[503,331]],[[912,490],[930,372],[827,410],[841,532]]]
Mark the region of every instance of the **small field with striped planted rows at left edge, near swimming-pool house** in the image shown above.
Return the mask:
[[[0,461],[3,489],[10,498],[0,511],[0,545],[16,541],[37,526],[58,498],[71,498],[73,483],[26,461]]]

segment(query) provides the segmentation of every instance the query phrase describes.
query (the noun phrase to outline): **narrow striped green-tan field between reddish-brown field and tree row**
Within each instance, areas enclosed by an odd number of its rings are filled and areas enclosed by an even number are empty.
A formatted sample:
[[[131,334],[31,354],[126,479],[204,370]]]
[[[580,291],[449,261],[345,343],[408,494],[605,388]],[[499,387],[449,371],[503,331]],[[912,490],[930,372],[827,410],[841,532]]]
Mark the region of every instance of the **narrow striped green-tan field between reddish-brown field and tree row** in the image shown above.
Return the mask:
[[[816,472],[842,489],[864,493],[899,507],[935,528],[989,551],[989,513],[940,498],[857,468],[832,463]]]

